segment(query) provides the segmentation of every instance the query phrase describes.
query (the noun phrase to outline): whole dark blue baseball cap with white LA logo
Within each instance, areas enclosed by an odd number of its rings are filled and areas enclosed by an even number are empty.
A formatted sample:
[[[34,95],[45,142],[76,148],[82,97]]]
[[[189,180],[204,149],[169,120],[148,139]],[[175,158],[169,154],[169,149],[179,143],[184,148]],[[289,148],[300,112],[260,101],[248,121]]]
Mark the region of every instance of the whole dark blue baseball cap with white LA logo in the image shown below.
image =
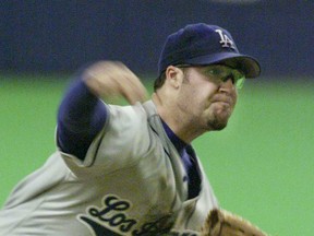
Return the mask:
[[[158,74],[160,76],[169,66],[214,63],[239,69],[246,78],[261,74],[258,61],[240,54],[228,31],[204,23],[189,24],[167,37],[158,61]]]

